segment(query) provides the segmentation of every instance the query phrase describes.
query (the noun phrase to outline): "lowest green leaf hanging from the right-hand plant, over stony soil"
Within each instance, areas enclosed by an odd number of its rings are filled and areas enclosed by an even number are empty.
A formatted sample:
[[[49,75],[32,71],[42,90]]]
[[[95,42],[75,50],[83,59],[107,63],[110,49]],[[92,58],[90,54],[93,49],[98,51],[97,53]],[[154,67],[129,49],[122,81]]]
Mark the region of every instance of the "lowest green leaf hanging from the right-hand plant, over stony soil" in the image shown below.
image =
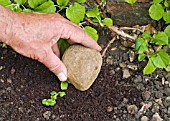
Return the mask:
[[[156,67],[152,62],[153,59],[154,57],[149,58],[149,61],[143,70],[143,74],[151,74],[152,72],[155,71]]]

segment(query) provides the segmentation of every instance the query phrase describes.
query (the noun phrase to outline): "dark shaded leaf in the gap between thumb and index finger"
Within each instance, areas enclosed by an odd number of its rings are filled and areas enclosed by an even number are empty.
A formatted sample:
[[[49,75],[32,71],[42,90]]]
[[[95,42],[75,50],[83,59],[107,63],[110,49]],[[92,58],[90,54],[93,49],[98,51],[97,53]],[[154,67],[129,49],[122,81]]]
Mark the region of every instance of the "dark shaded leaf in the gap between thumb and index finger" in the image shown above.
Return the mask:
[[[60,55],[61,56],[64,54],[66,49],[70,46],[70,44],[64,39],[59,39],[57,44],[58,44],[58,48],[60,50]]]

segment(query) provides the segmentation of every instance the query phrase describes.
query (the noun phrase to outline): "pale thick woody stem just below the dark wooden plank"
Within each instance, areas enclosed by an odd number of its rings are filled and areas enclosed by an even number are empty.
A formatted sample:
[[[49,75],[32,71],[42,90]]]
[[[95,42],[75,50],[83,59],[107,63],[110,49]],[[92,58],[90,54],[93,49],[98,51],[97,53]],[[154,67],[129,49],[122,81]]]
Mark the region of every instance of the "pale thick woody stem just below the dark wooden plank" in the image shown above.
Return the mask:
[[[125,33],[125,32],[122,31],[122,30],[119,30],[119,28],[116,27],[116,26],[111,26],[111,27],[109,27],[109,29],[110,29],[112,32],[114,32],[114,33],[116,33],[116,34],[118,34],[118,35],[120,35],[120,36],[122,36],[122,37],[124,37],[124,38],[130,39],[131,41],[134,41],[134,40],[137,38],[137,37],[134,37],[134,36],[131,36],[131,35]]]

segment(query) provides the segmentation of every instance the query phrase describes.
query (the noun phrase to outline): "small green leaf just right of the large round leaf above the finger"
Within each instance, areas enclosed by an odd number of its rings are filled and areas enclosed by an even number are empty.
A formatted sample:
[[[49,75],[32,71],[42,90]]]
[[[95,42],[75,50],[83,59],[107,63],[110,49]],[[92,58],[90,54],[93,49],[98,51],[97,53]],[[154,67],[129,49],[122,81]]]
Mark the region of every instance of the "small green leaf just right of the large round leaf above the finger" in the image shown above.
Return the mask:
[[[97,17],[100,15],[98,5],[95,5],[92,10],[86,12],[87,17]]]

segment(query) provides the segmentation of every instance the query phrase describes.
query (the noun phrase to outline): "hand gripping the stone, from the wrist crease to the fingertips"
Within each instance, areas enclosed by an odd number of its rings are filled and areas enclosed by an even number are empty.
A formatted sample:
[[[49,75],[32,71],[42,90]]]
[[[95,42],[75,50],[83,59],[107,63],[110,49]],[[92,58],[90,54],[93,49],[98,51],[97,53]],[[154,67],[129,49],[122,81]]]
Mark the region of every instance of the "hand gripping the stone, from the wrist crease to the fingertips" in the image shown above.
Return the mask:
[[[11,11],[12,12],[12,11]],[[60,81],[66,81],[67,70],[59,59],[57,41],[80,43],[101,50],[101,47],[78,25],[57,13],[15,13],[10,39],[5,43],[18,53],[47,66]]]

